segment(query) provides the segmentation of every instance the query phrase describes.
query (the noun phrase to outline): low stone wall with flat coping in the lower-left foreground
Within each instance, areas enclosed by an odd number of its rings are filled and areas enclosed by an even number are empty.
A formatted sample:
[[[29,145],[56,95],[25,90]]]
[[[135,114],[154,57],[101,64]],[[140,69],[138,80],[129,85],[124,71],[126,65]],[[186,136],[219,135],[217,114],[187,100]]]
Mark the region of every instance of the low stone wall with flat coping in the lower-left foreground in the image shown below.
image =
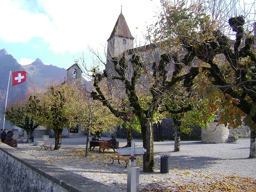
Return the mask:
[[[79,174],[68,172],[1,142],[0,167],[0,191],[3,192],[120,191],[119,188],[109,187]]]

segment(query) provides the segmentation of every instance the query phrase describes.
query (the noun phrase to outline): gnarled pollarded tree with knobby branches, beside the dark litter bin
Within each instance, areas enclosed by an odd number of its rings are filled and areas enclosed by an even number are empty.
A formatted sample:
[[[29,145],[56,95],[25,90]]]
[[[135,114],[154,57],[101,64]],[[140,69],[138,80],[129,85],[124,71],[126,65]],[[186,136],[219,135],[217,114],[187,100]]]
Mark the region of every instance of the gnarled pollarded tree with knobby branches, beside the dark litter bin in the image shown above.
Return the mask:
[[[162,96],[165,95],[167,90],[178,82],[183,82],[186,77],[187,82],[193,80],[194,71],[193,68],[188,72],[173,79],[167,79],[166,65],[170,63],[171,58],[169,54],[162,54],[160,61],[154,61],[152,63],[146,63],[140,59],[139,54],[133,54],[129,59],[132,66],[132,77],[127,78],[126,73],[130,72],[128,67],[128,61],[123,56],[121,59],[112,58],[114,64],[114,70],[118,75],[109,76],[104,70],[103,74],[95,73],[94,86],[97,92],[91,92],[91,96],[94,99],[98,99],[103,105],[108,106],[110,111],[115,114],[116,117],[125,116],[128,112],[114,109],[109,100],[101,91],[100,82],[103,78],[109,78],[110,80],[120,80],[124,83],[125,93],[129,100],[129,106],[133,109],[133,113],[139,118],[143,147],[147,150],[143,155],[143,170],[144,172],[154,171],[154,142],[153,142],[153,118],[156,112],[159,110],[162,103]],[[176,71],[181,72],[181,69]],[[146,82],[146,80],[147,82]],[[186,82],[186,83],[187,83]],[[148,97],[138,97],[138,87],[142,86],[144,92],[148,94]],[[144,100],[147,98],[146,100]]]

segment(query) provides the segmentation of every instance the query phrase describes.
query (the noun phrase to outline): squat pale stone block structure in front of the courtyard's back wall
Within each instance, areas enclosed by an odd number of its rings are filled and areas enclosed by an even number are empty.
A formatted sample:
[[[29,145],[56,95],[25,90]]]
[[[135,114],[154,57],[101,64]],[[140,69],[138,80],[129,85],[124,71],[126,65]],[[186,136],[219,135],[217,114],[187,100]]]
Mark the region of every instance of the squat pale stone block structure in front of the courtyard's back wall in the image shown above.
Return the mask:
[[[229,136],[229,129],[223,124],[218,125],[218,122],[212,122],[209,127],[202,128],[202,143],[225,143]]]

